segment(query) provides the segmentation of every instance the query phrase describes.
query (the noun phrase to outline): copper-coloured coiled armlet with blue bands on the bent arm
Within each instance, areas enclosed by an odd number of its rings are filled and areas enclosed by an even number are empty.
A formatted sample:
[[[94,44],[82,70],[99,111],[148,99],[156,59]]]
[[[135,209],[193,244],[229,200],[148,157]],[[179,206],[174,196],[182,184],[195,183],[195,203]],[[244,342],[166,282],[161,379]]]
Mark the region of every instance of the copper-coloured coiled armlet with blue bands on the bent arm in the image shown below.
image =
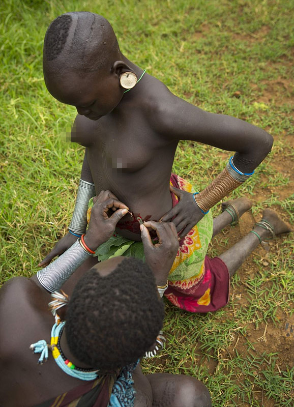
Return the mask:
[[[194,199],[201,212],[206,214],[222,198],[239,187],[244,181],[253,175],[253,172],[244,173],[239,171],[233,163],[233,157],[219,175],[200,193],[194,193]]]

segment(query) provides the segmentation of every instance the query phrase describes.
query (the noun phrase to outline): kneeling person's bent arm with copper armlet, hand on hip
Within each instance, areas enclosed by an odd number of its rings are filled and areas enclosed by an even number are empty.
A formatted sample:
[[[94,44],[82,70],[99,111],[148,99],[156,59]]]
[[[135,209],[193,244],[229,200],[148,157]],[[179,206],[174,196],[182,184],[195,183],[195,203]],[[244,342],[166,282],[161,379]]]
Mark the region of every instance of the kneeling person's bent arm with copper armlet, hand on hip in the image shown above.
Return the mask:
[[[187,232],[223,197],[249,178],[269,154],[273,137],[240,119],[209,113],[166,93],[165,103],[154,114],[156,131],[170,140],[193,140],[226,151],[235,151],[230,162],[199,194],[172,188],[179,203],[161,220],[172,221],[184,237]]]

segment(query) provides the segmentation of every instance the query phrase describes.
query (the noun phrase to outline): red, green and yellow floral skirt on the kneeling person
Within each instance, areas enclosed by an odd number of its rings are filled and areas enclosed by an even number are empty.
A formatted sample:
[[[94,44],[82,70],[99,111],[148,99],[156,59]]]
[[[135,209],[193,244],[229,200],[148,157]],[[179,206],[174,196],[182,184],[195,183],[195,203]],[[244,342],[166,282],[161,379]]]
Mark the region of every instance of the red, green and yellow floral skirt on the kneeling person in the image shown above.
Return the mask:
[[[183,178],[171,174],[170,184],[187,192],[195,192]],[[173,207],[178,197],[171,193]],[[91,216],[89,202],[88,221]],[[209,258],[206,253],[212,238],[211,212],[203,216],[180,241],[177,256],[168,276],[165,297],[175,306],[190,312],[216,311],[228,302],[229,273],[219,257]],[[122,236],[112,236],[96,250],[99,260],[115,256],[133,256],[144,259],[142,242],[134,242]]]

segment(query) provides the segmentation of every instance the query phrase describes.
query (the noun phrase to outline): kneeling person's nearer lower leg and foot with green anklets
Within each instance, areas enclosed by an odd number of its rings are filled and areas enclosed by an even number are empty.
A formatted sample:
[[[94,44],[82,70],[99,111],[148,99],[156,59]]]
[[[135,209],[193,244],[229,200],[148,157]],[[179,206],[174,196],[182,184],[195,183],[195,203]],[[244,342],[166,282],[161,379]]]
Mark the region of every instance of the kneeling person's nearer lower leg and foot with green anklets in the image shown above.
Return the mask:
[[[273,225],[276,235],[287,233],[291,230],[287,223],[283,222],[278,214],[272,209],[264,209],[262,219],[269,221]],[[271,233],[268,230],[263,229],[261,226],[255,226],[253,231],[258,234],[261,240],[271,237]],[[249,232],[249,234],[241,239],[240,242],[236,243],[236,245],[233,245],[230,249],[219,256],[226,264],[230,276],[236,273],[246,257],[249,256],[259,243],[260,241],[258,237]]]

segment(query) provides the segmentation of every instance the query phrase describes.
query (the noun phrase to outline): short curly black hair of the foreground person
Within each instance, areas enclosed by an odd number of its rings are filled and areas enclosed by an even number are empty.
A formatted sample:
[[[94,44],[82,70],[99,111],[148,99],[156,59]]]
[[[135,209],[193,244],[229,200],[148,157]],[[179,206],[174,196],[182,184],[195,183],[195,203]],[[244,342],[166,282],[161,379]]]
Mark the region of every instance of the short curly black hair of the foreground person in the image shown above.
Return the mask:
[[[79,280],[66,313],[66,338],[82,363],[113,371],[149,350],[163,317],[151,269],[126,257],[107,276],[93,268]]]

